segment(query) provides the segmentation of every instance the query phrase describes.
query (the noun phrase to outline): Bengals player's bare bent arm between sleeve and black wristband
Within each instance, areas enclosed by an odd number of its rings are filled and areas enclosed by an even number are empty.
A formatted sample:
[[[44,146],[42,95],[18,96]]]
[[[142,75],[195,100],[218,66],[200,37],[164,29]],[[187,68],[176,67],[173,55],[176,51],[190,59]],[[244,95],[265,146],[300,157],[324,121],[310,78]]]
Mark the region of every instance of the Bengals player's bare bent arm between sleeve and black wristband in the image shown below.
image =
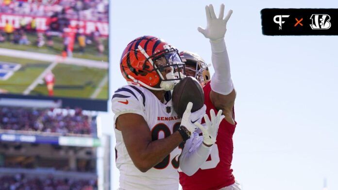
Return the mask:
[[[183,142],[178,131],[167,138],[152,141],[147,122],[135,113],[119,115],[116,127],[122,133],[130,158],[141,172],[147,172]]]

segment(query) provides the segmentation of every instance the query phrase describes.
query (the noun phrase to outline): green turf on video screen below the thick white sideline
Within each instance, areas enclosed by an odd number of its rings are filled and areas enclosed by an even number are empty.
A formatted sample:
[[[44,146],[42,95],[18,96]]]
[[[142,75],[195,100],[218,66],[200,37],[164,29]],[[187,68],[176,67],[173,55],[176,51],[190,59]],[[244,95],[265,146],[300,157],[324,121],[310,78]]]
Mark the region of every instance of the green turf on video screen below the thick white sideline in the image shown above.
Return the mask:
[[[50,65],[47,62],[0,56],[0,62],[19,63],[21,68],[7,80],[0,80],[0,89],[11,94],[22,94],[27,87]],[[55,75],[54,96],[90,98],[99,83],[107,75],[106,69],[58,63],[52,73]],[[94,99],[108,98],[108,82]],[[48,95],[43,79],[29,95]]]

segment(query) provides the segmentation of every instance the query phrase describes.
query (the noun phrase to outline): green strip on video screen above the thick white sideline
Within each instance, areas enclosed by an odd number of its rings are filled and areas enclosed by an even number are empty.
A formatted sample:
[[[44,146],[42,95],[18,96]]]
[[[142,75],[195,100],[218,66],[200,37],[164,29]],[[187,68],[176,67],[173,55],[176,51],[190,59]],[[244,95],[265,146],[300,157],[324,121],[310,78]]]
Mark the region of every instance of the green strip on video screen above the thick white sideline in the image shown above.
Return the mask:
[[[53,47],[47,47],[46,44],[43,47],[37,47],[35,43],[36,34],[27,34],[27,37],[28,37],[28,40],[31,42],[30,45],[18,45],[18,44],[13,44],[13,43],[5,41],[3,43],[0,43],[0,47],[7,48],[7,49],[33,51],[33,52],[38,52],[38,53],[48,53],[48,54],[54,54],[54,55],[60,55],[64,48],[63,39],[60,37],[53,37],[53,42],[54,42]],[[45,42],[46,42],[46,39],[45,39]],[[108,61],[108,41],[103,40],[103,45],[104,45],[104,52],[102,55],[98,54],[98,50],[93,44],[86,45],[84,49],[84,53],[82,54],[79,51],[78,43],[75,43],[73,57],[107,62]]]

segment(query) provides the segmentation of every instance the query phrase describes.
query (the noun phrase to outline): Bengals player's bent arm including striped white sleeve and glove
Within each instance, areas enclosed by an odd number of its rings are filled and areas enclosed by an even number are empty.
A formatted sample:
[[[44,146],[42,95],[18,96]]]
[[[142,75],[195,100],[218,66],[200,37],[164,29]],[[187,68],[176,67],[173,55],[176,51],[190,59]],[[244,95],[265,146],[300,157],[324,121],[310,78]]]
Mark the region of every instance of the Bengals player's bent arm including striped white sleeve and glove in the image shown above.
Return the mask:
[[[118,89],[112,98],[112,111],[115,113],[115,126],[122,133],[130,158],[136,168],[147,172],[190,137],[197,128],[191,124],[191,120],[202,117],[205,107],[191,113],[192,104],[189,103],[183,114],[182,120],[185,122],[181,122],[181,127],[167,138],[152,141],[150,127],[145,120],[147,117],[142,97],[137,97],[135,93],[128,87]]]

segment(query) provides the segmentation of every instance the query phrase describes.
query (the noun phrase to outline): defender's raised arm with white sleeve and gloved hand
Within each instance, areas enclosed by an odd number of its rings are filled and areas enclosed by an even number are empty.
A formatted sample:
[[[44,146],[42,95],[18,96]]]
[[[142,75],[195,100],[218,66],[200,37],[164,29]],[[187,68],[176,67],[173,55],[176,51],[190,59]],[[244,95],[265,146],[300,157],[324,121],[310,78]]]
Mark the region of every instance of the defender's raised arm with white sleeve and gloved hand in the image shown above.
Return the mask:
[[[226,24],[229,20],[232,10],[224,16],[224,4],[220,6],[219,18],[216,17],[212,5],[205,7],[207,17],[207,28],[198,28],[206,38],[210,39],[211,44],[211,60],[215,68],[215,73],[211,78],[210,100],[218,110],[223,110],[225,119],[234,123],[232,110],[235,103],[236,91],[231,79],[230,62],[228,52],[225,46],[224,35],[226,32]]]

